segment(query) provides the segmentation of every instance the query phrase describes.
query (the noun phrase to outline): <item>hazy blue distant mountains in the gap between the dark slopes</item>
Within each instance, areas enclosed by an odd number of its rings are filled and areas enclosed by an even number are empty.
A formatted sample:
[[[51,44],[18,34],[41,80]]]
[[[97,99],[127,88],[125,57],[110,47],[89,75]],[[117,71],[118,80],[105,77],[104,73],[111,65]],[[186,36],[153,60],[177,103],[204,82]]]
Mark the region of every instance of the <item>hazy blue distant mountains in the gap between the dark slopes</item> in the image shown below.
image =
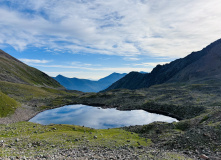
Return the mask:
[[[68,90],[78,90],[82,92],[99,92],[101,90],[106,89],[117,80],[123,78],[125,75],[126,73],[112,73],[111,75],[102,78],[98,81],[78,78],[67,78],[62,75],[58,75],[57,77],[53,78]]]

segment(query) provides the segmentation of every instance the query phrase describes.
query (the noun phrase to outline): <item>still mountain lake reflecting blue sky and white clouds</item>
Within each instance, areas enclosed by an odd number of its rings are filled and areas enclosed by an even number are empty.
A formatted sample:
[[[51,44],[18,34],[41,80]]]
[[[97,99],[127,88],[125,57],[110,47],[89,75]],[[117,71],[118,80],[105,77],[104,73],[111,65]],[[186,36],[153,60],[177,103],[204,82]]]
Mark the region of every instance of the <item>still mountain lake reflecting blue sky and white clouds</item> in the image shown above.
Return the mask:
[[[173,122],[174,118],[144,110],[119,111],[86,105],[68,105],[39,113],[30,122],[47,124],[73,124],[95,129],[144,125],[154,121]]]

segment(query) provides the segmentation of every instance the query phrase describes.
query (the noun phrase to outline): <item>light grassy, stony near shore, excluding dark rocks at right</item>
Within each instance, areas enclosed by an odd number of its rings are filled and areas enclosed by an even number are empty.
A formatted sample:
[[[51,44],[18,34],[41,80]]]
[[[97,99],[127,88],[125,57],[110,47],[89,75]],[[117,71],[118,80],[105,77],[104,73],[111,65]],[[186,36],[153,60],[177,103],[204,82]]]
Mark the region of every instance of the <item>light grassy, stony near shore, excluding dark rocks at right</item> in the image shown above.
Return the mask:
[[[123,129],[95,130],[74,125],[21,122],[0,125],[0,157],[24,159],[177,159],[182,153],[150,148],[148,138]]]

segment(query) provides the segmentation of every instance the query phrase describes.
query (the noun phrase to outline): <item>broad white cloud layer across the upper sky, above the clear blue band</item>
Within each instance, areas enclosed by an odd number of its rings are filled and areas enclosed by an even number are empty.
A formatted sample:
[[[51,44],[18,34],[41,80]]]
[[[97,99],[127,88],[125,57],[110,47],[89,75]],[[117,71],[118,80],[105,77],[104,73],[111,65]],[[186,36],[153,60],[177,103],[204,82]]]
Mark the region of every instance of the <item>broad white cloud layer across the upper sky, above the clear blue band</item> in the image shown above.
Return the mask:
[[[0,42],[121,56],[183,57],[221,35],[220,0],[12,0]],[[9,9],[10,8],[10,9]],[[33,12],[26,12],[32,10]]]

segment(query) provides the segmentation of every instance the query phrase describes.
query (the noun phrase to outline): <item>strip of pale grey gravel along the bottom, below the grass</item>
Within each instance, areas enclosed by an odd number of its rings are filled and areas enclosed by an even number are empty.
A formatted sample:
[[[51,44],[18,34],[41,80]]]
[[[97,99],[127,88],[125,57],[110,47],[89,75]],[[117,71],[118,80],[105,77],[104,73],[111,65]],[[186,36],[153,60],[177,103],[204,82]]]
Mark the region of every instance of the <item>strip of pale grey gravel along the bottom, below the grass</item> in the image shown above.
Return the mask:
[[[185,155],[183,153],[168,152],[153,148],[94,148],[79,147],[74,149],[55,149],[54,153],[45,153],[34,155],[31,157],[25,156],[9,156],[7,158],[0,158],[0,160],[149,160],[149,159],[179,159],[190,160],[199,159],[197,157]]]

